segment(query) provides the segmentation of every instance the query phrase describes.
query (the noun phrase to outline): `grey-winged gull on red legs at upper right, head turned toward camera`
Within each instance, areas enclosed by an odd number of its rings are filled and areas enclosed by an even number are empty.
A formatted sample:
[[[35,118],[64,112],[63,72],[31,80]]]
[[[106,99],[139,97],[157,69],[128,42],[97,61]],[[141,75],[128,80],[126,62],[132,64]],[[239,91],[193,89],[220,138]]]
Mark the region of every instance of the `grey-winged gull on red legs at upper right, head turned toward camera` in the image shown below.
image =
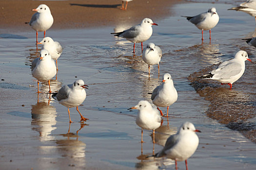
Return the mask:
[[[181,16],[185,17],[185,16]],[[199,30],[202,30],[202,40],[203,40],[203,30],[209,30],[211,39],[211,29],[214,28],[219,20],[218,14],[215,7],[209,8],[207,12],[201,13],[194,17],[186,17],[191,23],[195,24]]]

